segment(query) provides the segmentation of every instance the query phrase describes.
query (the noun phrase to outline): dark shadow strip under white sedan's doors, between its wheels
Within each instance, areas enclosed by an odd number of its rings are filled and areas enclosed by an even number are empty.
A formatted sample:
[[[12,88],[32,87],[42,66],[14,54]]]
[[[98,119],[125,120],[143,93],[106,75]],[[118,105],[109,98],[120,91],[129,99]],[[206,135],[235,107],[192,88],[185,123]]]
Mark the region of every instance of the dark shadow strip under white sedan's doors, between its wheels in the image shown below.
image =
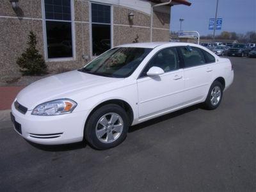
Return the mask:
[[[147,122],[143,122],[141,124],[131,126],[131,127],[129,127],[128,132],[138,131],[138,130],[148,127],[150,125],[158,124],[159,122],[163,122],[164,120],[170,120],[172,118],[175,118],[176,116],[180,116],[180,115],[189,113],[191,111],[195,111],[196,109],[200,109],[200,108],[202,108],[202,104],[196,104],[195,106],[190,106],[188,108],[180,109],[179,111],[174,111],[172,113],[168,113],[166,115],[159,116],[157,118],[153,118],[152,120],[148,120]]]

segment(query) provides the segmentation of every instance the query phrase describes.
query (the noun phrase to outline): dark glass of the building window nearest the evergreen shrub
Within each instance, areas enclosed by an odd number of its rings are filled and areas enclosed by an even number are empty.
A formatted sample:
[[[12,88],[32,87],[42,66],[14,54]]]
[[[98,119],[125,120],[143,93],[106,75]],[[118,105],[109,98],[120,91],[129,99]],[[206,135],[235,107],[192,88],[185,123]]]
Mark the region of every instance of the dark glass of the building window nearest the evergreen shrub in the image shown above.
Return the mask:
[[[44,0],[47,56],[72,58],[72,0]]]

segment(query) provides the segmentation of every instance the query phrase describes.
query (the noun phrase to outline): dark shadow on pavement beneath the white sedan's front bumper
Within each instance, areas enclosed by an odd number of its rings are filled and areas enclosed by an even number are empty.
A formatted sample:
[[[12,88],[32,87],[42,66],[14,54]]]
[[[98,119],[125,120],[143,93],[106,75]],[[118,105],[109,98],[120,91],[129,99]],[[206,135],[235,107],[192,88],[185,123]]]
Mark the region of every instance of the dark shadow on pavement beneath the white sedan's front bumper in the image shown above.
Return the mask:
[[[37,143],[32,143],[31,141],[26,140],[30,145],[40,150],[57,152],[57,151],[68,151],[68,150],[76,150],[81,148],[86,148],[87,144],[84,141],[63,145],[40,145]]]

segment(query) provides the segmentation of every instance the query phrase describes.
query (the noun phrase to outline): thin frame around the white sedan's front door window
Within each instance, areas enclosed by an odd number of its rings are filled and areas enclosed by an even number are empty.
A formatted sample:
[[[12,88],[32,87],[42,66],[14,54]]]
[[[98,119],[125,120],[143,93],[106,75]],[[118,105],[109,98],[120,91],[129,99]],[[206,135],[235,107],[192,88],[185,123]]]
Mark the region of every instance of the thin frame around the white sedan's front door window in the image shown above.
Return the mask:
[[[165,50],[165,49],[170,49],[170,48],[176,49],[176,51],[177,51],[177,56],[178,56],[178,58],[179,58],[179,68],[176,68],[176,69],[174,69],[174,70],[169,70],[168,72],[164,72],[164,74],[168,74],[169,72],[175,72],[176,70],[180,70],[181,68],[183,68],[183,67],[184,67],[184,61],[183,61],[183,58],[180,58],[180,52],[179,52],[180,50],[178,49],[179,46],[175,46],[175,47],[164,47],[163,49],[160,49],[159,51],[157,51],[157,52],[150,58],[150,60],[147,61],[147,64],[143,67],[143,69],[141,70],[140,75],[138,76],[137,79],[143,79],[143,78],[145,78],[145,77],[148,77],[148,76],[142,76],[142,74],[143,74],[143,71],[145,70],[145,68],[147,68],[147,66],[149,65],[150,61],[152,61],[153,58],[154,58],[159,52],[161,52],[161,51],[163,51],[163,50]]]

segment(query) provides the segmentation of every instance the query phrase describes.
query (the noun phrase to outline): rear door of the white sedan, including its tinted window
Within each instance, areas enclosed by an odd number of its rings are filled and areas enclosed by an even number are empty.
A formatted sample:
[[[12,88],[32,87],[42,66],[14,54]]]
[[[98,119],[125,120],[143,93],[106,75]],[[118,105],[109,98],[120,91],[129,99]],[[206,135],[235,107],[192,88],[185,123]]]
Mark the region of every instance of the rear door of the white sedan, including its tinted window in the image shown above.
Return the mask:
[[[184,61],[184,99],[188,104],[198,102],[207,95],[215,58],[198,47],[180,47],[180,53]]]

